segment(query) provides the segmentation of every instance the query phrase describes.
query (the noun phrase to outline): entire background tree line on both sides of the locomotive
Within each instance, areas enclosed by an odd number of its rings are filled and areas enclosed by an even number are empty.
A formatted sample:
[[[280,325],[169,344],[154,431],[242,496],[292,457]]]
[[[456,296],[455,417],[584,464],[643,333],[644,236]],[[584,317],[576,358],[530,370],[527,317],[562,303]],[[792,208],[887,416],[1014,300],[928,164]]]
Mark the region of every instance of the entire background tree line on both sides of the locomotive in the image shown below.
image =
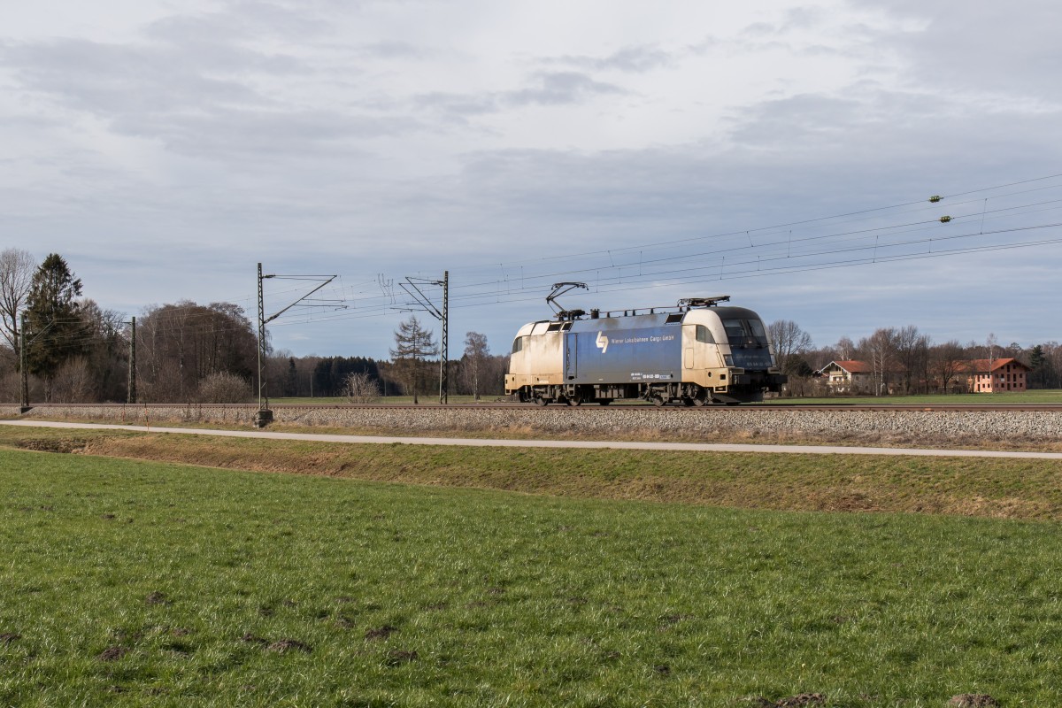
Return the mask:
[[[21,395],[21,344],[29,398],[52,402],[123,402],[135,370],[137,402],[245,402],[254,399],[258,368],[255,326],[232,303],[181,300],[152,305],[133,317],[83,296],[84,284],[58,254],[39,264],[15,248],[0,253],[0,397]],[[24,331],[23,331],[24,327]],[[964,364],[1012,357],[1030,367],[1030,388],[1062,387],[1062,345],[935,343],[913,325],[879,328],[854,342],[841,338],[816,347],[791,321],[770,325],[778,365],[789,376],[788,395],[828,393],[815,374],[830,361],[859,360],[873,372],[874,393],[919,394],[961,390]],[[23,338],[24,334],[24,338]],[[394,332],[389,360],[365,357],[295,357],[267,342],[271,397],[434,396],[439,346],[411,315]],[[447,368],[449,393],[496,397],[504,393],[508,355],[491,355],[486,338],[467,332],[460,359]]]

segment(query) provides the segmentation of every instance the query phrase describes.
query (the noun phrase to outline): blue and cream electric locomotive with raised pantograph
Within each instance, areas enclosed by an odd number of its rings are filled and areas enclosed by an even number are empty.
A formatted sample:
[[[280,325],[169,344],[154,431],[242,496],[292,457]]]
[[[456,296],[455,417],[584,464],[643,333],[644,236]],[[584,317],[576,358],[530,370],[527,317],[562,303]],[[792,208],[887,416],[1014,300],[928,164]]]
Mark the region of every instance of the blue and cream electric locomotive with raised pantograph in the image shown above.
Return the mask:
[[[558,283],[547,297],[584,283]],[[656,405],[764,400],[786,377],[759,315],[721,307],[729,295],[690,297],[673,308],[604,312],[556,309],[520,327],[506,393],[520,401],[607,405],[640,398]]]

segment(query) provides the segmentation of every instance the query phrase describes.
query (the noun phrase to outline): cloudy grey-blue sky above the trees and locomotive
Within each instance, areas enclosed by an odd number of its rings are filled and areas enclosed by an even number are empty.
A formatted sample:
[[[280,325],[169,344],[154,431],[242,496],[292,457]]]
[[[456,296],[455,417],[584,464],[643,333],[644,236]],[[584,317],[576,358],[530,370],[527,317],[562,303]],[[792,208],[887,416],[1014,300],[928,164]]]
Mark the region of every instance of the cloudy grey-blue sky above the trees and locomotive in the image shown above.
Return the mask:
[[[0,245],[131,315],[339,276],[273,323],[295,355],[386,358],[444,271],[452,358],[564,280],[817,345],[1062,339],[1062,5],[744,4],[7,3]]]

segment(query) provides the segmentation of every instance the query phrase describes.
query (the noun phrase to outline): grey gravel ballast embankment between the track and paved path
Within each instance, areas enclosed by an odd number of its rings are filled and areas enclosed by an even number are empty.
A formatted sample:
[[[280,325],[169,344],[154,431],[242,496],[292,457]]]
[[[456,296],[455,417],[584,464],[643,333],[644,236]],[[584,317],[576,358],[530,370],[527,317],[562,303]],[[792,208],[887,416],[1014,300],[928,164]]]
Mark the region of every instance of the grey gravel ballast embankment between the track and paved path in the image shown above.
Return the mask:
[[[253,426],[255,409],[236,405],[79,405],[35,408],[19,416],[17,407],[0,405],[0,415],[22,418],[68,418],[133,426],[210,424]],[[345,428],[391,434],[507,433],[579,435],[597,438],[661,434],[708,439],[726,434],[744,437],[812,437],[824,441],[905,438],[1038,441],[1062,443],[1062,411],[837,411],[578,408],[273,408],[274,425]]]

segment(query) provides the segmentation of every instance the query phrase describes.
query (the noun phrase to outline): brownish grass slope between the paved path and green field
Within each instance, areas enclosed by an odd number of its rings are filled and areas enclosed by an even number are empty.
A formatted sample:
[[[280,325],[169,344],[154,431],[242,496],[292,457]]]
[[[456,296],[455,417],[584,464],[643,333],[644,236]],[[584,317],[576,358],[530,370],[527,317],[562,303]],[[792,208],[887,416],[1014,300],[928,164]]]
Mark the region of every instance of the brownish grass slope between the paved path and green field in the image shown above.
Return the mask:
[[[340,445],[0,427],[0,446],[374,482],[740,508],[1062,521],[1062,462]]]

